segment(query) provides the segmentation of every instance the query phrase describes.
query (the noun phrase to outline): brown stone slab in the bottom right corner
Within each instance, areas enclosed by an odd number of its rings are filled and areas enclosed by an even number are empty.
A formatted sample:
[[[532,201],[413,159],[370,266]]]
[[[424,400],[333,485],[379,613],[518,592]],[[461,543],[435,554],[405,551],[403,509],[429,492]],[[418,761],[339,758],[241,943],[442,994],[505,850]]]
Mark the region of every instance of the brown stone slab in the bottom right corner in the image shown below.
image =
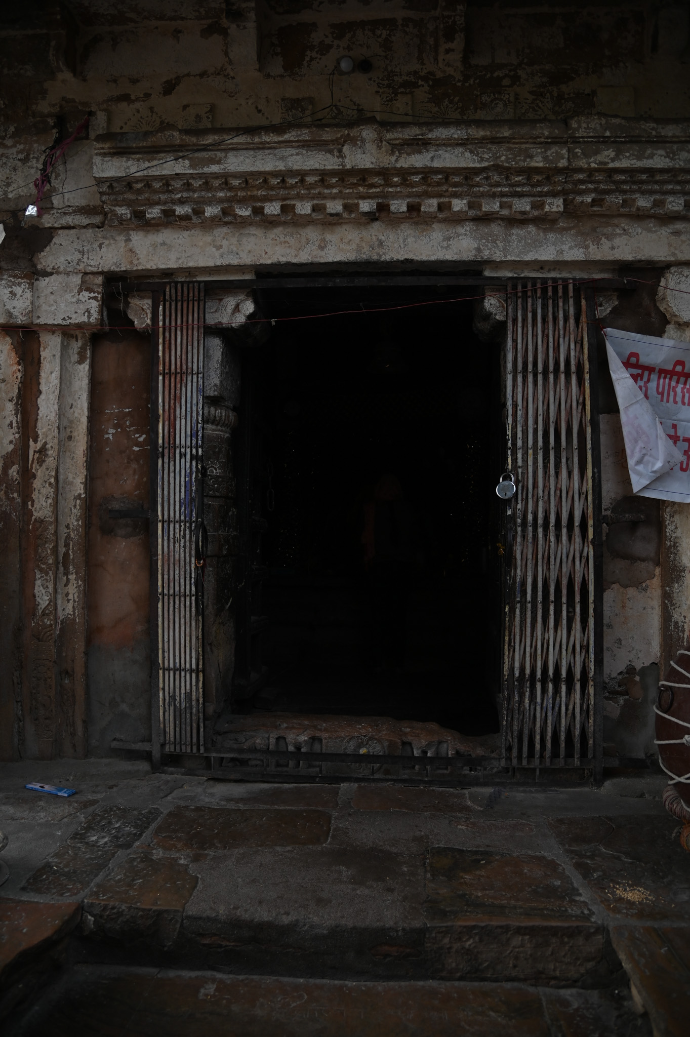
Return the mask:
[[[690,1031],[690,927],[613,926],[611,942],[655,1037],[685,1037]]]

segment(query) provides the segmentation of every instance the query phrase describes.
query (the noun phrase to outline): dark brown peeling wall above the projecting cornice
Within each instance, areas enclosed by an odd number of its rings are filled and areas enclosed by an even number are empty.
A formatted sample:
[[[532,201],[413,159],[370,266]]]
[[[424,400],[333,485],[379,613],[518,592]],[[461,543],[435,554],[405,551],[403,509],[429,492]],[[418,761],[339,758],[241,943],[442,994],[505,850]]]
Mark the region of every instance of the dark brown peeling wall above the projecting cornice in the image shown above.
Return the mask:
[[[371,67],[336,76],[336,104],[384,118],[674,118],[688,104],[680,2],[71,0],[28,2],[3,28],[6,108],[27,151],[27,110],[50,118],[60,104],[116,132],[311,115],[344,54]]]

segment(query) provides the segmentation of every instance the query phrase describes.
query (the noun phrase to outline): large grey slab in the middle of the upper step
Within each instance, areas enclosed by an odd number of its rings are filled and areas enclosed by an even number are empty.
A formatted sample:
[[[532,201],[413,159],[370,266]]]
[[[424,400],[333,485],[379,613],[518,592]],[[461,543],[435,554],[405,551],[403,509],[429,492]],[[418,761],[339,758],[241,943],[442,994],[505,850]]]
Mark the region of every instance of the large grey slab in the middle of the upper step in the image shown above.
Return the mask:
[[[199,885],[176,944],[183,960],[284,976],[426,975],[422,854],[245,848],[190,869]]]

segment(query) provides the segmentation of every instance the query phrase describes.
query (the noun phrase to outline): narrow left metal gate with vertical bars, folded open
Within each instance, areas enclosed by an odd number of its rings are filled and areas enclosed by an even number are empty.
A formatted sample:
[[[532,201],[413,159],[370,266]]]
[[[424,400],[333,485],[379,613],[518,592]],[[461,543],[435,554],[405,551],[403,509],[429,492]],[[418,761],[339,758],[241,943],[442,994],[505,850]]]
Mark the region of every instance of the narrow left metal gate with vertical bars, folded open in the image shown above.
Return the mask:
[[[161,742],[202,752],[204,287],[170,284],[159,334]]]

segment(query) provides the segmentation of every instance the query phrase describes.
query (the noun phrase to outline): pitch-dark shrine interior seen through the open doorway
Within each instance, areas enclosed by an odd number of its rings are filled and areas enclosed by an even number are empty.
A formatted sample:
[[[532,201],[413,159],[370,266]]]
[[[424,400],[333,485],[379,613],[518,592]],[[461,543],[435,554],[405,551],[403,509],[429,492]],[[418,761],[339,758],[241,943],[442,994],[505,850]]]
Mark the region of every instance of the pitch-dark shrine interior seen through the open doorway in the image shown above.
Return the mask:
[[[262,291],[275,325],[243,352],[242,399],[265,619],[242,711],[498,730],[499,347],[472,331],[481,290]]]

